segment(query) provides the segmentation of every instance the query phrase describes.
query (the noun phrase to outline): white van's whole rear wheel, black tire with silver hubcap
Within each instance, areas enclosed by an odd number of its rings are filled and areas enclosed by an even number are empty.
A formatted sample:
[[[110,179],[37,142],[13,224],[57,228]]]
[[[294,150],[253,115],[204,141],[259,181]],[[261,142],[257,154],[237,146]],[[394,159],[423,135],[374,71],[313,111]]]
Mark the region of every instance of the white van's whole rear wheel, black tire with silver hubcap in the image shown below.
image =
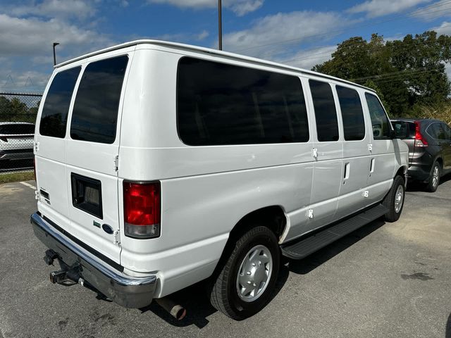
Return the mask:
[[[271,230],[257,226],[237,239],[228,252],[223,266],[218,266],[211,278],[209,298],[218,311],[242,320],[271,300],[280,268],[280,248]]]

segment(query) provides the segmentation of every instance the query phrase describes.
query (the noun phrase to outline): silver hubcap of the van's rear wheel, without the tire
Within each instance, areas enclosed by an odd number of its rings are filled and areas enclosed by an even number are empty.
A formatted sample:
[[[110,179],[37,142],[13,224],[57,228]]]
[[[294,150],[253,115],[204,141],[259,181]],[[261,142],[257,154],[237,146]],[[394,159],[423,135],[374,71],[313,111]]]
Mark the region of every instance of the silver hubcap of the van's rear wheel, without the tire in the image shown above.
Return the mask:
[[[243,258],[237,275],[237,293],[251,302],[264,293],[273,272],[273,257],[266,246],[254,246]]]

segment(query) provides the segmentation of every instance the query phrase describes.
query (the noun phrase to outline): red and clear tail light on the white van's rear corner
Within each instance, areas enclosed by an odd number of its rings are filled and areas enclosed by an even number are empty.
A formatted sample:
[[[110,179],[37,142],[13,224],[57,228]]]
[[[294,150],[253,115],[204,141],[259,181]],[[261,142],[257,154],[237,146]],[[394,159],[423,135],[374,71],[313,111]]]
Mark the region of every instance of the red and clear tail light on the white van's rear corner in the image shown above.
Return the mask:
[[[125,236],[139,239],[160,235],[160,182],[123,182]]]

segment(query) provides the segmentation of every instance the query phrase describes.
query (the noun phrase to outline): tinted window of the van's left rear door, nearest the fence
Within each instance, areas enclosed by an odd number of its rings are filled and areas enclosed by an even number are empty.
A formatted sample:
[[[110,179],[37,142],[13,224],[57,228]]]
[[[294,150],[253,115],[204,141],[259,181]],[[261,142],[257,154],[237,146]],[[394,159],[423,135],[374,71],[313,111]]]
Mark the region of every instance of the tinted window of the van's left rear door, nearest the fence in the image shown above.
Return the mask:
[[[55,75],[42,108],[39,134],[64,138],[68,120],[70,99],[80,67],[63,70]]]

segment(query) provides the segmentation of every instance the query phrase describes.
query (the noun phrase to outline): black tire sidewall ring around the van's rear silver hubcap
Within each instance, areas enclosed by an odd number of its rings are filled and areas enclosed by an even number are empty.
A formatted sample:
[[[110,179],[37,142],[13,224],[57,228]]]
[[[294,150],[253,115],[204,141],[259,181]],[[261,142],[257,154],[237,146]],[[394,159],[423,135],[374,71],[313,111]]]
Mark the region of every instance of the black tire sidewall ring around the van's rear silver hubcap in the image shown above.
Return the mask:
[[[247,318],[250,315],[254,315],[259,312],[261,308],[264,308],[266,303],[271,300],[271,295],[273,289],[276,286],[278,270],[280,268],[280,249],[278,247],[278,242],[276,236],[266,227],[261,227],[264,230],[256,234],[254,237],[249,237],[242,245],[240,245],[233,258],[233,264],[230,268],[230,273],[228,275],[228,297],[230,299],[230,305],[233,307],[233,311],[240,318]],[[252,232],[252,230],[251,230]],[[271,252],[273,260],[273,268],[271,272],[271,277],[268,282],[268,286],[264,290],[263,294],[259,296],[255,301],[246,302],[240,299],[237,294],[236,281],[237,275],[239,273],[240,265],[245,258],[246,254],[257,245],[264,245]]]

